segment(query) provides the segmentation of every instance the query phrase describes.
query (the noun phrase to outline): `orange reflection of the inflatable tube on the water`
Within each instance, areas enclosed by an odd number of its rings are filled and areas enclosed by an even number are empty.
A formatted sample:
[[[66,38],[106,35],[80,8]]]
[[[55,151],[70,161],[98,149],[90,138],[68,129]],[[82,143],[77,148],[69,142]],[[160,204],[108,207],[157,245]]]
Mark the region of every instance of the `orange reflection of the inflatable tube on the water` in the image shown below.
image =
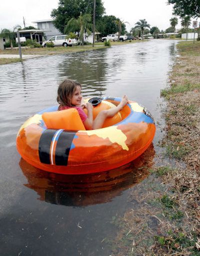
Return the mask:
[[[33,167],[22,158],[19,166],[28,181],[24,185],[35,190],[40,200],[68,206],[86,206],[110,201],[121,191],[143,180],[149,174],[154,153],[151,144],[132,162],[93,174],[49,173]]]

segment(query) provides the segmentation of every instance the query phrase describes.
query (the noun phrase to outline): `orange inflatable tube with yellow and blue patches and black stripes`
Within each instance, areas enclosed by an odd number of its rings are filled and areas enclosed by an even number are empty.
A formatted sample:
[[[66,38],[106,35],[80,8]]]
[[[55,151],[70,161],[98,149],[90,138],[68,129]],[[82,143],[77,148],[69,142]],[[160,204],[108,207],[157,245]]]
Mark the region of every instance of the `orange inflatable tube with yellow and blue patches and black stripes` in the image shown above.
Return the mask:
[[[100,109],[102,105],[114,107],[121,100],[102,99]],[[95,130],[84,129],[76,109],[56,110],[57,106],[52,106],[30,117],[16,137],[24,160],[54,173],[85,174],[117,168],[142,154],[155,134],[151,115],[130,100],[116,116],[107,118],[112,125],[105,122]]]

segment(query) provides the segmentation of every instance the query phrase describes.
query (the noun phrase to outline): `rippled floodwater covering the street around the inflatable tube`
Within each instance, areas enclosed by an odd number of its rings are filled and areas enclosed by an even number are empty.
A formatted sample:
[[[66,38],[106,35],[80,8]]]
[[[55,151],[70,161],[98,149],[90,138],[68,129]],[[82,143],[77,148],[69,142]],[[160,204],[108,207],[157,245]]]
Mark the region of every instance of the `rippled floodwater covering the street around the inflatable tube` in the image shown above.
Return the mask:
[[[159,95],[175,44],[157,39],[0,66],[1,256],[111,254],[117,232],[113,220],[129,207],[130,189],[148,178],[160,150]],[[21,159],[15,148],[20,125],[56,104],[57,84],[66,77],[83,85],[84,96],[127,94],[145,105],[157,126],[146,152],[118,169],[79,176],[47,173]]]

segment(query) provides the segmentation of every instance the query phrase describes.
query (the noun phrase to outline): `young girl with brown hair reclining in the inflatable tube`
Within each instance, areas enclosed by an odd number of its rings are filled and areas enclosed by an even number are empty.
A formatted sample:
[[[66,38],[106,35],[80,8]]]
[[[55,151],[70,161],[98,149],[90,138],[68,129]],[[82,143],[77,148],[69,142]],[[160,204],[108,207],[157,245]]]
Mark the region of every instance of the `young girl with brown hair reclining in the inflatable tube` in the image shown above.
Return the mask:
[[[59,103],[58,110],[71,107],[76,108],[85,129],[90,130],[101,128],[105,118],[112,117],[120,111],[128,102],[128,98],[124,95],[116,107],[100,111],[93,120],[92,104],[89,102],[82,104],[81,84],[70,79],[65,79],[58,86],[57,102]],[[84,107],[87,109],[87,115],[83,111]]]

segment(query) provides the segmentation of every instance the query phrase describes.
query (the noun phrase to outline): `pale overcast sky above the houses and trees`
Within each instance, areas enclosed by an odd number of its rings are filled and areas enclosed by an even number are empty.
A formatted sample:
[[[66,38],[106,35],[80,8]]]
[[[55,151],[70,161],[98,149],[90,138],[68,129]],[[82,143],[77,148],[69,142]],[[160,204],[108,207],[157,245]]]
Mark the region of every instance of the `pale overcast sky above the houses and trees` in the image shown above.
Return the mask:
[[[134,26],[139,19],[146,19],[150,26],[157,26],[160,30],[170,26],[172,5],[167,0],[103,0],[107,15],[114,15],[126,21],[126,29]],[[50,12],[57,8],[58,0],[1,0],[0,3],[0,29],[13,27],[17,24],[23,26],[33,25],[32,21],[50,18]],[[180,27],[178,23],[177,28]]]

